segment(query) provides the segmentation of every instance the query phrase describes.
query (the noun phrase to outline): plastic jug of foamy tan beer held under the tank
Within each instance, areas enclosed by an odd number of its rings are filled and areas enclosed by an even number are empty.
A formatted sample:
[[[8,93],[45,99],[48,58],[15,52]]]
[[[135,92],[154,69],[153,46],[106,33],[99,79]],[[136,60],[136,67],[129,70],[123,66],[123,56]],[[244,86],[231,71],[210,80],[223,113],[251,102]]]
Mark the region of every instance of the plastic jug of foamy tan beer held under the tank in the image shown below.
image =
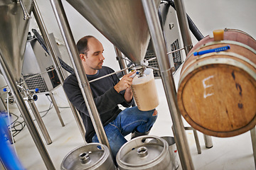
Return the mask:
[[[153,69],[146,69],[144,77],[134,77],[132,93],[140,111],[151,111],[159,105]]]

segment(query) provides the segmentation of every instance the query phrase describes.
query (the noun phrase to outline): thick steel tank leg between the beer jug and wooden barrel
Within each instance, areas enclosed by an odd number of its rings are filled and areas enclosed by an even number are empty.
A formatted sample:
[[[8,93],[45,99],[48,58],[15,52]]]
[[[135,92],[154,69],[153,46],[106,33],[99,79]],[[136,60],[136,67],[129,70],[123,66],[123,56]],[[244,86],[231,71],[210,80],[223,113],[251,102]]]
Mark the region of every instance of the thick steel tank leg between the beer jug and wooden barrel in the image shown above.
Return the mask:
[[[142,5],[144,8],[144,13],[146,14],[146,21],[149,25],[149,32],[151,34],[151,40],[154,45],[154,51],[156,53],[157,61],[159,62],[161,79],[163,81],[164,91],[166,93],[166,99],[169,105],[169,111],[171,113],[171,120],[174,124],[176,145],[178,149],[178,155],[181,159],[181,165],[183,169],[193,170],[194,167],[191,159],[191,153],[188,148],[186,133],[184,130],[183,122],[181,120],[181,113],[178,110],[178,104],[176,101],[174,77],[171,73],[171,66],[169,64],[170,62],[167,56],[164,35],[161,30],[156,6],[154,1],[148,0],[142,0]]]

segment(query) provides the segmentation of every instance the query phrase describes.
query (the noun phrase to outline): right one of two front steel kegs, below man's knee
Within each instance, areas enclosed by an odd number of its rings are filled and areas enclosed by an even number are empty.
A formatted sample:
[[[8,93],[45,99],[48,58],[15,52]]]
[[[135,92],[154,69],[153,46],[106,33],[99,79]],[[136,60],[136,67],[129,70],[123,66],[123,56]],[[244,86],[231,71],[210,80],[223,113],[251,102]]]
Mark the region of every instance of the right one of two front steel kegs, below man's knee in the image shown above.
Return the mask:
[[[156,136],[141,136],[125,143],[117,153],[117,164],[124,169],[174,169],[169,145]]]

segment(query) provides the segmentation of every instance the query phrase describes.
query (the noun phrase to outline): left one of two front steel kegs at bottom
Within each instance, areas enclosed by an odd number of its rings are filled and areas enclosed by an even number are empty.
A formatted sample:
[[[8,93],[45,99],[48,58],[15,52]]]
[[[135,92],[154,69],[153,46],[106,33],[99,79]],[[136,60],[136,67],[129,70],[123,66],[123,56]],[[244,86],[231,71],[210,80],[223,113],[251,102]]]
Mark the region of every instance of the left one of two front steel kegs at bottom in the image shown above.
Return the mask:
[[[60,169],[114,170],[116,167],[107,146],[100,143],[90,143],[69,152],[63,159]]]

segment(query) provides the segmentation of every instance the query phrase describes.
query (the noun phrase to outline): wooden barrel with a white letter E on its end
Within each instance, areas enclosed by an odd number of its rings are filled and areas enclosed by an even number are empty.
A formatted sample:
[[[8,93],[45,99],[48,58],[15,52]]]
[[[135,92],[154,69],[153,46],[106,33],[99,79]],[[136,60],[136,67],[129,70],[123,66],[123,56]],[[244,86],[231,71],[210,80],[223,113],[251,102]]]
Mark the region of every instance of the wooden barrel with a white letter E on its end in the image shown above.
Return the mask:
[[[229,45],[230,49],[193,55]],[[207,36],[189,52],[178,84],[178,108],[196,130],[231,137],[256,125],[256,40],[225,29],[224,40]]]

